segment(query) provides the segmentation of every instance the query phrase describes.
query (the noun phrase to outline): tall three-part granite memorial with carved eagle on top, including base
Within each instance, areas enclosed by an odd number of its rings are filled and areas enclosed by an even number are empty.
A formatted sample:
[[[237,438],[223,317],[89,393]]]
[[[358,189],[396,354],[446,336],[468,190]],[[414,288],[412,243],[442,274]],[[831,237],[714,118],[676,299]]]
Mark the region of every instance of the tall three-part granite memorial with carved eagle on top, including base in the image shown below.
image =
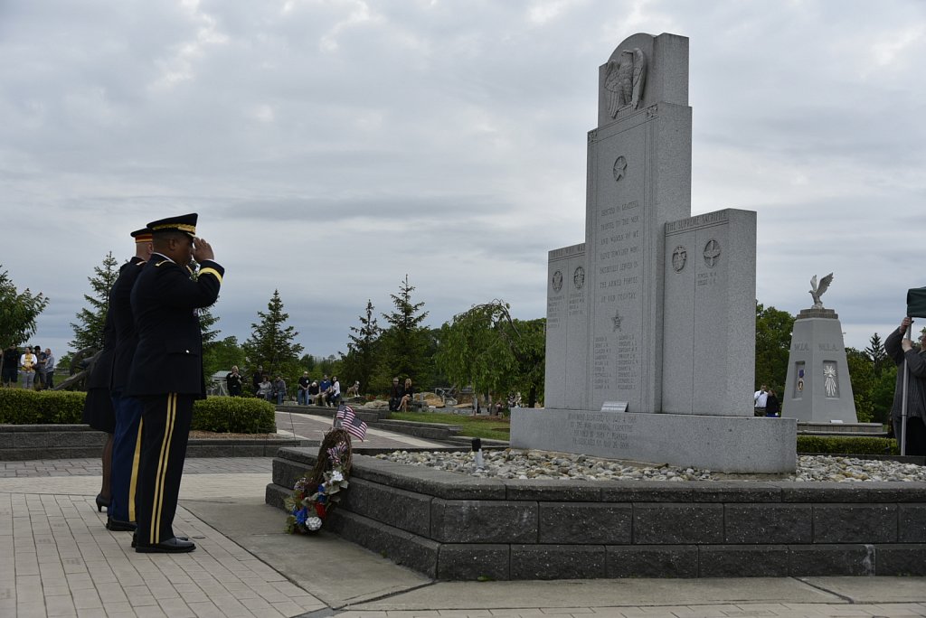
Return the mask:
[[[516,448],[728,472],[795,469],[795,420],[753,416],[756,213],[691,216],[688,40],[599,68],[585,241],[549,253],[543,410]]]

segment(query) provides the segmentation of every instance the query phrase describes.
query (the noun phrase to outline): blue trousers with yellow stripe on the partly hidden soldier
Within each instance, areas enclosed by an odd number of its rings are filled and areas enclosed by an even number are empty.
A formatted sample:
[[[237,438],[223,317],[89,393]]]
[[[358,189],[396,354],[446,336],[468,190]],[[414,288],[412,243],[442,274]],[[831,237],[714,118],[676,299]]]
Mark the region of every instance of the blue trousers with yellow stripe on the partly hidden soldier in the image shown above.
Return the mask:
[[[113,435],[112,503],[108,515],[120,522],[135,521],[135,492],[142,454],[142,401],[112,392],[116,412]]]

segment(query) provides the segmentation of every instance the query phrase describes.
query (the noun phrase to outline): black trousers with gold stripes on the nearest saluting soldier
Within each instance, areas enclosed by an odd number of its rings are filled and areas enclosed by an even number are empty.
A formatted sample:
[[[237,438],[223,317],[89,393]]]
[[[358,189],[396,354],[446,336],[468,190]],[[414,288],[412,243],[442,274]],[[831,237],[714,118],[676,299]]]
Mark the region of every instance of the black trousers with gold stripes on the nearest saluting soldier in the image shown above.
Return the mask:
[[[142,402],[142,455],[135,494],[136,538],[151,544],[174,537],[173,518],[193,418],[193,395],[168,393]]]

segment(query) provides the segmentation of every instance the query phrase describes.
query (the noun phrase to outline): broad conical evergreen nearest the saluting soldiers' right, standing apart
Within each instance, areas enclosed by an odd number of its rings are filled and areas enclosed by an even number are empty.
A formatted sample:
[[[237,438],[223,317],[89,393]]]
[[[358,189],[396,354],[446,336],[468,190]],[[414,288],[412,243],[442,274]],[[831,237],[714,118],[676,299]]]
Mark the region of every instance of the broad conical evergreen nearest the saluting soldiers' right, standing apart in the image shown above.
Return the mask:
[[[291,378],[298,372],[302,345],[295,342],[299,334],[295,328],[284,326],[289,314],[283,313],[280,290],[273,290],[267,313],[258,311],[257,315],[260,322],[251,324],[251,337],[244,341],[244,353],[250,366],[262,365],[268,375]]]

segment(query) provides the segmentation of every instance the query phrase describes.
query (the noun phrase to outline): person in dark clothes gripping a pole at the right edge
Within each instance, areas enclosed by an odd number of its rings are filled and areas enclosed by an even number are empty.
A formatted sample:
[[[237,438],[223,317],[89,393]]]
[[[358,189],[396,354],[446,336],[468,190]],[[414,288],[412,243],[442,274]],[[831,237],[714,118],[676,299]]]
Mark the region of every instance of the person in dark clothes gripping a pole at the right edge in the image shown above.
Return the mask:
[[[924,419],[926,419],[926,334],[920,337],[920,350],[914,349],[908,335],[912,324],[913,320],[905,317],[900,321],[900,327],[884,340],[884,352],[887,352],[887,355],[897,365],[897,383],[894,389],[891,420],[901,453],[926,455],[926,425],[924,425]],[[903,427],[905,397],[907,400],[906,432]]]

